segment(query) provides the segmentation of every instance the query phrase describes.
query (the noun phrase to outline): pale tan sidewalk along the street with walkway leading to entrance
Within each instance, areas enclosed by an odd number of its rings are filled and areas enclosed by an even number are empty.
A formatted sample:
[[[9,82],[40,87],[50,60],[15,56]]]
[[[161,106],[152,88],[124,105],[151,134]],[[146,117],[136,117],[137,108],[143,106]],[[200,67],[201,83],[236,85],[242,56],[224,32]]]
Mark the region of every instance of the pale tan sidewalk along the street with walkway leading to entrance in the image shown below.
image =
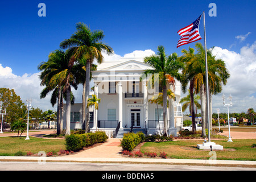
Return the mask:
[[[30,136],[40,137],[45,133],[53,133],[54,130],[46,130],[30,133]],[[241,134],[242,133],[242,134]],[[2,134],[3,135],[3,134]],[[226,133],[223,133],[226,135]],[[241,136],[242,135],[242,136]],[[26,136],[26,135],[25,135]],[[243,137],[244,136],[244,137]],[[1,135],[0,135],[1,137]],[[232,139],[255,138],[256,133],[232,132]],[[256,142],[256,140],[255,140]],[[154,159],[154,158],[126,158],[122,156],[122,147],[119,146],[119,138],[110,138],[107,142],[89,148],[88,150],[73,155],[56,157],[32,157],[32,156],[0,156],[0,161],[32,161],[32,162],[134,162],[134,163],[164,163],[164,164],[226,164],[226,165],[254,165],[256,161],[241,160],[198,160],[198,159]]]

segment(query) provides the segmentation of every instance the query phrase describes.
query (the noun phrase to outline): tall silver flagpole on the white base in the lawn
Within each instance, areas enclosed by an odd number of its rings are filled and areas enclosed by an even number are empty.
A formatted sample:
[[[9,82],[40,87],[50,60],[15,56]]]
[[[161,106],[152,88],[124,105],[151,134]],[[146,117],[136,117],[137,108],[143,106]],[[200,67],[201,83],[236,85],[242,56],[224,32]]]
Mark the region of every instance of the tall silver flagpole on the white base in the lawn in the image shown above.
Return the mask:
[[[208,120],[208,142],[210,142],[210,110],[209,110],[209,86],[208,86],[208,64],[207,64],[207,45],[205,33],[205,15],[204,16],[204,48],[205,48],[205,80],[206,80],[206,94],[207,94],[207,120]]]

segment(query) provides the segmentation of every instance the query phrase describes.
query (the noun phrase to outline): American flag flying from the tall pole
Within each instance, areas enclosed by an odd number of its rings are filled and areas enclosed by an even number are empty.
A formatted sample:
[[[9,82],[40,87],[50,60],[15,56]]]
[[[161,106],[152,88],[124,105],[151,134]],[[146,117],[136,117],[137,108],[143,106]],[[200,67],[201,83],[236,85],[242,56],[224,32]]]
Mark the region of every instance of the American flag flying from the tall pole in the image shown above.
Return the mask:
[[[184,44],[189,44],[202,39],[198,29],[201,16],[202,15],[200,15],[199,18],[195,20],[195,22],[189,24],[189,26],[187,27],[181,28],[177,32],[181,36],[180,40],[177,43],[177,48]]]

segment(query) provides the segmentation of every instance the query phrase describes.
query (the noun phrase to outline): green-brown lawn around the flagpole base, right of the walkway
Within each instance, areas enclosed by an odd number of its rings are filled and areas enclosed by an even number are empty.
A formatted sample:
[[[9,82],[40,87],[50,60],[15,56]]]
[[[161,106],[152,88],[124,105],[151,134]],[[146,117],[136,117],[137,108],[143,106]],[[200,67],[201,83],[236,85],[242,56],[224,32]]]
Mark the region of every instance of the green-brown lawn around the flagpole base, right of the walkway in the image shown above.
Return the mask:
[[[256,148],[252,148],[256,139],[212,140],[224,147],[224,151],[216,151],[217,160],[256,160]],[[168,158],[173,159],[209,159],[209,151],[198,150],[197,144],[203,140],[177,140],[170,142],[146,142],[141,147],[144,152],[166,152]]]

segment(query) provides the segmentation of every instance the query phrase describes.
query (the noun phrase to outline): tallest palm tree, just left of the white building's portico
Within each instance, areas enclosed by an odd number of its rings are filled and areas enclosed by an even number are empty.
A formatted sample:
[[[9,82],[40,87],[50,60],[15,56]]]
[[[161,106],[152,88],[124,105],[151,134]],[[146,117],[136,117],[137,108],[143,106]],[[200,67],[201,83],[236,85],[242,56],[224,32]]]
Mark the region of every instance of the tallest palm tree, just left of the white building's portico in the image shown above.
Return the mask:
[[[101,64],[104,60],[102,56],[102,51],[110,54],[113,52],[113,49],[110,46],[107,46],[104,43],[101,43],[101,40],[104,38],[104,32],[101,30],[91,31],[88,26],[84,23],[76,24],[77,32],[71,35],[71,38],[63,40],[60,43],[61,48],[74,48],[75,52],[71,58],[70,65],[75,61],[86,60],[86,80],[83,86],[82,94],[82,129],[85,129],[86,133],[89,132],[89,109],[85,107],[85,103],[89,99],[90,91],[90,68],[93,63],[93,60],[96,59],[98,64]],[[85,92],[85,93],[84,93]],[[85,126],[86,123],[86,126]]]

